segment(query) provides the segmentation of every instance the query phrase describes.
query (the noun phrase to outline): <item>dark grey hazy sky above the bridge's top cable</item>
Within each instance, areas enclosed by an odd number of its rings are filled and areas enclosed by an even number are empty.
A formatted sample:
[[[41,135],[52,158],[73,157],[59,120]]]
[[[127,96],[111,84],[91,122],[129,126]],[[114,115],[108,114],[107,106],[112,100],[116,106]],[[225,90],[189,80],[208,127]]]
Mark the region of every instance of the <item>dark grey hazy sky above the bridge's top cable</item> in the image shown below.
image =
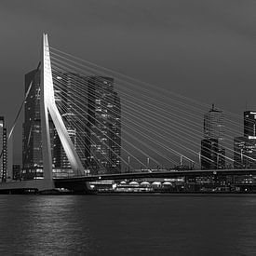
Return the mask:
[[[1,0],[0,115],[10,126],[43,32],[53,47],[197,101],[256,109],[255,12],[255,0]]]

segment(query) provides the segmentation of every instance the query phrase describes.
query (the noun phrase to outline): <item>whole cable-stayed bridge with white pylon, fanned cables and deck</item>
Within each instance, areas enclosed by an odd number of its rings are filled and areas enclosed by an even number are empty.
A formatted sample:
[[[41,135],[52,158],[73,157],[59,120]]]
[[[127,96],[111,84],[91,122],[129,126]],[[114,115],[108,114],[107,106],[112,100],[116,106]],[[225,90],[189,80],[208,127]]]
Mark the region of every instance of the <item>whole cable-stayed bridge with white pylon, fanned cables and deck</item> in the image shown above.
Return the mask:
[[[225,125],[214,117],[218,135],[207,126],[203,131],[209,105],[49,47],[47,34],[40,66],[30,78],[25,108],[34,111],[27,111],[27,117],[25,112],[23,175],[30,174],[32,181],[9,182],[5,187],[80,190],[102,179],[256,172],[254,157],[234,150],[240,116],[225,112]],[[214,151],[216,159],[207,154],[208,144],[201,143],[210,133],[217,138],[207,138],[211,146],[224,149]],[[39,164],[32,161],[31,150]],[[234,155],[249,164],[231,168]],[[202,157],[212,169],[201,169]]]

